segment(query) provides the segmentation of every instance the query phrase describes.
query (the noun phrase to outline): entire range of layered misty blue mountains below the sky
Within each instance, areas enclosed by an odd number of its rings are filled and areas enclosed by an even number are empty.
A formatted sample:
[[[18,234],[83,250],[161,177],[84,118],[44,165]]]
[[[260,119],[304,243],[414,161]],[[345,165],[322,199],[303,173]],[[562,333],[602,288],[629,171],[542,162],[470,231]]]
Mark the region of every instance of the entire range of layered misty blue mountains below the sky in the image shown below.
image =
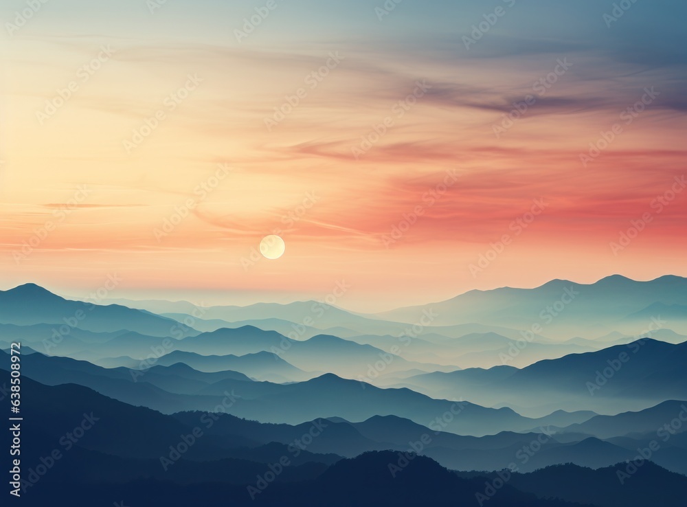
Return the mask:
[[[612,276],[190,319],[25,284],[0,291],[0,392],[21,341],[24,477],[63,454],[30,505],[682,507],[684,289]]]

